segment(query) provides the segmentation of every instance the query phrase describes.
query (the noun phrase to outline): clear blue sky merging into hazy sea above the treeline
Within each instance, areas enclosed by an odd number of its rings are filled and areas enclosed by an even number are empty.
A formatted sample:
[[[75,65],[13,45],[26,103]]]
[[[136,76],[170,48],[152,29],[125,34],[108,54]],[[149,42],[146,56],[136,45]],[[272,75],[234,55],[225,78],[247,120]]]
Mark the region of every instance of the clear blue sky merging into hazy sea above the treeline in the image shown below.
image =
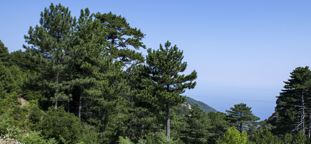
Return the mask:
[[[29,26],[50,3],[73,16],[91,12],[124,16],[146,34],[148,48],[169,40],[184,52],[185,74],[197,71],[197,86],[185,95],[225,112],[246,103],[268,118],[275,96],[299,66],[309,66],[311,1],[2,1],[0,39],[9,51],[22,49]],[[146,53],[146,50],[142,50]]]

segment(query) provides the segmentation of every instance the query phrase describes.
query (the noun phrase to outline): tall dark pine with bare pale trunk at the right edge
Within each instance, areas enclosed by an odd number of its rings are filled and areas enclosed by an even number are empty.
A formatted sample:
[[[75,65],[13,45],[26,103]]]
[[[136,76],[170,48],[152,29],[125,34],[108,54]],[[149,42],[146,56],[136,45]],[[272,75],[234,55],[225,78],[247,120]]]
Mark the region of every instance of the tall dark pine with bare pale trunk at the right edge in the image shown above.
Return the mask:
[[[285,134],[292,130],[302,130],[307,124],[307,114],[310,108],[310,81],[311,71],[309,67],[297,67],[290,73],[288,81],[284,81],[284,90],[277,96],[276,114],[278,115],[273,125],[276,134]],[[309,114],[310,116],[310,114]],[[310,120],[309,120],[310,122]],[[311,125],[310,125],[311,126]],[[309,127],[309,130],[310,127]],[[310,134],[311,132],[309,132]]]

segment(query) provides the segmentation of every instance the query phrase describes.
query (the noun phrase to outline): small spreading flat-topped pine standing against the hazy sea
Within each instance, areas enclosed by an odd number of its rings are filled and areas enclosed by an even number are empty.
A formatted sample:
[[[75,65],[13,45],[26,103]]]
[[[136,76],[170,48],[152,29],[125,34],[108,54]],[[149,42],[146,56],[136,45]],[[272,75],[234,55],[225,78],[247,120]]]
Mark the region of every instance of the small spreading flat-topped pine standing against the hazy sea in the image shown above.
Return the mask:
[[[251,108],[247,107],[246,104],[240,103],[231,107],[231,110],[226,110],[228,112],[228,117],[234,125],[238,126],[238,131],[241,133],[249,127],[251,123],[254,123],[260,118],[252,114]]]

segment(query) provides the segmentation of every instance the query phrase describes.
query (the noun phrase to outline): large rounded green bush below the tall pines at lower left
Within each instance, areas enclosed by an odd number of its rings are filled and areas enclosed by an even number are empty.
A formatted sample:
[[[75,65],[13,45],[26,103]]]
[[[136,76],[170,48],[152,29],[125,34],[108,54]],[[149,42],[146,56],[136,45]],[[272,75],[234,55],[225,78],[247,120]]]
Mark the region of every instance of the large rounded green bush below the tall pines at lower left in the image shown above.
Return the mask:
[[[59,143],[98,142],[94,129],[85,128],[78,117],[66,112],[63,107],[50,107],[36,124],[36,129],[42,130],[48,138],[55,137]]]

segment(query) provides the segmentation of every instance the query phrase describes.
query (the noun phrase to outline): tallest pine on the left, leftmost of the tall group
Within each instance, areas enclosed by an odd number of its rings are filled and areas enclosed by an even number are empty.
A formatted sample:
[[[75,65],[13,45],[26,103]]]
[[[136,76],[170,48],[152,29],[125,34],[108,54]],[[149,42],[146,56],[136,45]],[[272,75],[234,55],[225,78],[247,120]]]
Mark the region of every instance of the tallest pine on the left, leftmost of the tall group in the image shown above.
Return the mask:
[[[71,58],[67,52],[72,48],[74,38],[74,26],[76,18],[70,15],[68,8],[61,4],[45,8],[40,14],[40,26],[35,26],[24,36],[27,44],[24,48],[30,52],[32,58],[38,63],[42,85],[45,94],[50,95],[57,108],[58,101],[67,100],[66,89],[69,87],[66,81],[70,80],[70,66],[68,61]],[[43,80],[43,81],[41,81]]]

